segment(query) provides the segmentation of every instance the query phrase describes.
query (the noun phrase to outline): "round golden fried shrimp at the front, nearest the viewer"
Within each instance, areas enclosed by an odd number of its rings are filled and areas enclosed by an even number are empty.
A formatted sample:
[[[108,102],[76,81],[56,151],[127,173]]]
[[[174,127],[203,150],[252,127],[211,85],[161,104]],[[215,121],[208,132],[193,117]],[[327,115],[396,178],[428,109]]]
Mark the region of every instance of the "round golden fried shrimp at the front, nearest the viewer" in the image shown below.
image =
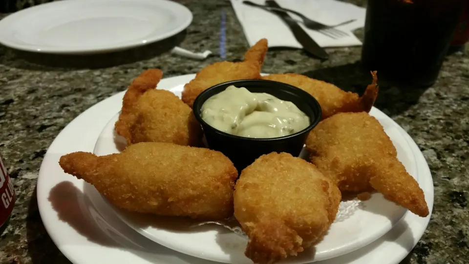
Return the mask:
[[[235,217],[249,237],[246,256],[267,264],[322,240],[341,193],[311,163],[286,153],[260,156],[235,185]]]

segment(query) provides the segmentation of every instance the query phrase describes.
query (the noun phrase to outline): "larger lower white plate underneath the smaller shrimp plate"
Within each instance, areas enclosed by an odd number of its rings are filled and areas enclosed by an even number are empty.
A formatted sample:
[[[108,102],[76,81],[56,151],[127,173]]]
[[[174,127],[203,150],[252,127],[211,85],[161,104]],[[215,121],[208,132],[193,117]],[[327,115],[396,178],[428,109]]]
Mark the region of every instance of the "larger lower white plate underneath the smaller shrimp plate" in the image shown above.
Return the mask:
[[[159,88],[173,88],[194,75],[164,79]],[[116,94],[73,120],[54,140],[44,156],[38,179],[38,204],[44,226],[58,248],[75,264],[215,264],[178,253],[139,235],[122,220],[101,195],[83,180],[64,174],[58,165],[61,155],[92,152],[106,123],[120,110],[123,93]],[[405,131],[378,110],[373,114],[396,128],[415,157],[418,181],[430,211],[433,183],[425,158]],[[403,142],[404,144],[404,142]],[[397,264],[418,242],[430,217],[406,212],[403,219],[383,237],[358,250],[318,264]],[[234,263],[234,262],[232,262]]]

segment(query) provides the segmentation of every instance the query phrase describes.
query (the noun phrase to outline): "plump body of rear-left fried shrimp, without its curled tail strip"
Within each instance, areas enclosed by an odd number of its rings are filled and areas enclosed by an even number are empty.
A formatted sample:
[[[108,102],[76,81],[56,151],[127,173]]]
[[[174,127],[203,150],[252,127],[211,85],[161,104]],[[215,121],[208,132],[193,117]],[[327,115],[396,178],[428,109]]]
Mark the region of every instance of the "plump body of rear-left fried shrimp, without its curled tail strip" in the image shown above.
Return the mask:
[[[146,72],[144,76],[149,75]],[[166,142],[202,146],[202,129],[192,109],[172,92],[155,89],[154,81],[147,81],[151,85],[144,88],[135,85],[142,78],[146,80],[146,77],[135,79],[124,96],[122,111],[115,124],[116,132],[127,139],[128,145]],[[142,93],[145,89],[147,91]]]

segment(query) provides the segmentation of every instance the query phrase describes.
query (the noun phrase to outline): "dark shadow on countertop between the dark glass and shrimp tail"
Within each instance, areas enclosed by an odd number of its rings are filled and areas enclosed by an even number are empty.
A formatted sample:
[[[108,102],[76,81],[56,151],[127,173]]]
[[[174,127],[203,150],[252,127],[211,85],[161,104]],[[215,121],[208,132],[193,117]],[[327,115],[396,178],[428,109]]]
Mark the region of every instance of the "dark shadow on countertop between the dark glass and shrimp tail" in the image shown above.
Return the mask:
[[[307,71],[302,74],[332,83],[345,91],[356,92],[360,95],[372,81],[370,72],[364,70],[360,62]],[[391,117],[399,115],[415,105],[427,89],[392,87],[380,81],[379,71],[377,75],[380,91],[375,107]]]

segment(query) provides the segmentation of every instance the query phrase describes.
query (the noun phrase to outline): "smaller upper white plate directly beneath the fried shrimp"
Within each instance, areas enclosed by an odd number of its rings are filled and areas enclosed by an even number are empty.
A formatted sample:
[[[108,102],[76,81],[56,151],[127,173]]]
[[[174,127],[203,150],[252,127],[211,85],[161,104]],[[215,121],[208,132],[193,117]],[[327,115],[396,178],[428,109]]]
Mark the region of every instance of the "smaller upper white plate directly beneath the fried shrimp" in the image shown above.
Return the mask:
[[[183,86],[184,84],[175,87],[158,85],[158,88],[169,89],[181,96]],[[398,130],[399,126],[391,122],[392,120],[379,110],[371,111],[372,115],[376,116],[377,113],[379,113],[377,118],[398,151],[399,159],[405,165],[406,170],[417,178],[415,157],[404,135]],[[118,113],[114,115],[101,132],[93,151],[95,154],[119,153],[125,148],[126,140],[114,131],[114,124],[118,117]],[[113,207],[110,204],[109,206]],[[221,226],[212,224],[196,228],[193,226],[193,221],[181,220],[174,223],[174,219],[128,213],[117,208],[115,210],[116,215],[134,230],[173,250],[222,263],[252,263],[244,255],[247,239]],[[371,199],[355,208],[350,217],[334,222],[324,240],[316,247],[305,250],[296,258],[289,258],[288,263],[310,263],[356,250],[387,233],[404,216],[405,212],[405,208],[384,199],[381,194],[373,194]]]

